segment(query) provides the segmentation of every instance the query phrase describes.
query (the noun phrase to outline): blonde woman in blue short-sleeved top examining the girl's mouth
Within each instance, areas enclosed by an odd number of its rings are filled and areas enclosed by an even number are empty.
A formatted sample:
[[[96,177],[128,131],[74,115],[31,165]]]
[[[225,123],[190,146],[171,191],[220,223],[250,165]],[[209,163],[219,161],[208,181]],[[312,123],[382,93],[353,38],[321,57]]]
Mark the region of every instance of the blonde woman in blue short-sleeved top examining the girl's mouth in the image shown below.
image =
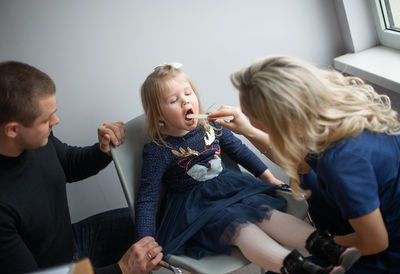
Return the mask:
[[[258,60],[231,81],[248,119],[229,106],[210,118],[233,115],[217,123],[278,163],[297,197],[310,194],[299,173],[314,178],[316,223],[363,255],[348,273],[400,273],[400,124],[389,98],[288,56]]]

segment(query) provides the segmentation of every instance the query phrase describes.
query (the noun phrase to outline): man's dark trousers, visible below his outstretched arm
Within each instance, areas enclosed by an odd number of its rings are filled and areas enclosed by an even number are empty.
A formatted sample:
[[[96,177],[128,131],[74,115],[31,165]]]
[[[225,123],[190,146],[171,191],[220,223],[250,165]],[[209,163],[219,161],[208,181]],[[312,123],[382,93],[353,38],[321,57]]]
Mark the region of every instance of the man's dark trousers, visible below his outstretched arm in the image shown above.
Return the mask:
[[[134,224],[128,208],[96,214],[72,225],[74,259],[89,258],[94,267],[115,264],[134,243]]]

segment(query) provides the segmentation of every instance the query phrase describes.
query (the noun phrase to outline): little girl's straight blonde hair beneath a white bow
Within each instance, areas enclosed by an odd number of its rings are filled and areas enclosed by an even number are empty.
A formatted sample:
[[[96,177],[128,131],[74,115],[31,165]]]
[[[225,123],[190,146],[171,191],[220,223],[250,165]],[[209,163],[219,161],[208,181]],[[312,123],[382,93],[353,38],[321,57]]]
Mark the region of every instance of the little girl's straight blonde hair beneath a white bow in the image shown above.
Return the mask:
[[[163,136],[161,133],[159,121],[159,117],[162,116],[160,108],[161,94],[166,88],[166,82],[178,75],[183,75],[187,79],[199,101],[199,113],[203,113],[199,93],[186,73],[181,69],[168,64],[156,67],[142,84],[141,97],[143,109],[146,113],[147,136],[151,142],[155,142],[159,145],[168,145],[164,139],[166,136]],[[198,123],[205,129],[209,127],[209,124],[205,119],[199,120]]]

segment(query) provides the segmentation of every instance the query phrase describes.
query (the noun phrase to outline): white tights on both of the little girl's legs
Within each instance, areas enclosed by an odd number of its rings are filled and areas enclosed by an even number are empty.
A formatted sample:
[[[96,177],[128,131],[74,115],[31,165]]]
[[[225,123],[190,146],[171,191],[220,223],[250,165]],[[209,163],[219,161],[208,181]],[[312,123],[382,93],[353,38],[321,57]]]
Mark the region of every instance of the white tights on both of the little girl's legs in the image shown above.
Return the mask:
[[[308,236],[314,231],[315,228],[302,220],[273,210],[269,220],[242,227],[234,244],[252,263],[280,272],[283,260],[290,253],[286,247],[304,248]]]

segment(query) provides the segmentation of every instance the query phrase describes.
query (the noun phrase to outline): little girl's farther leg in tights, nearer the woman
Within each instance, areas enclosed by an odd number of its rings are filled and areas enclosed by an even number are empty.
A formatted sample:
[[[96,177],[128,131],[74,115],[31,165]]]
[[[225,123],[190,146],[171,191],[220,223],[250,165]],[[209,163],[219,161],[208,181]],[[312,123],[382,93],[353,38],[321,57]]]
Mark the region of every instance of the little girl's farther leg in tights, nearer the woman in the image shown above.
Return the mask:
[[[297,249],[304,249],[307,238],[315,231],[308,223],[278,210],[273,210],[271,217],[258,225],[280,244]]]

